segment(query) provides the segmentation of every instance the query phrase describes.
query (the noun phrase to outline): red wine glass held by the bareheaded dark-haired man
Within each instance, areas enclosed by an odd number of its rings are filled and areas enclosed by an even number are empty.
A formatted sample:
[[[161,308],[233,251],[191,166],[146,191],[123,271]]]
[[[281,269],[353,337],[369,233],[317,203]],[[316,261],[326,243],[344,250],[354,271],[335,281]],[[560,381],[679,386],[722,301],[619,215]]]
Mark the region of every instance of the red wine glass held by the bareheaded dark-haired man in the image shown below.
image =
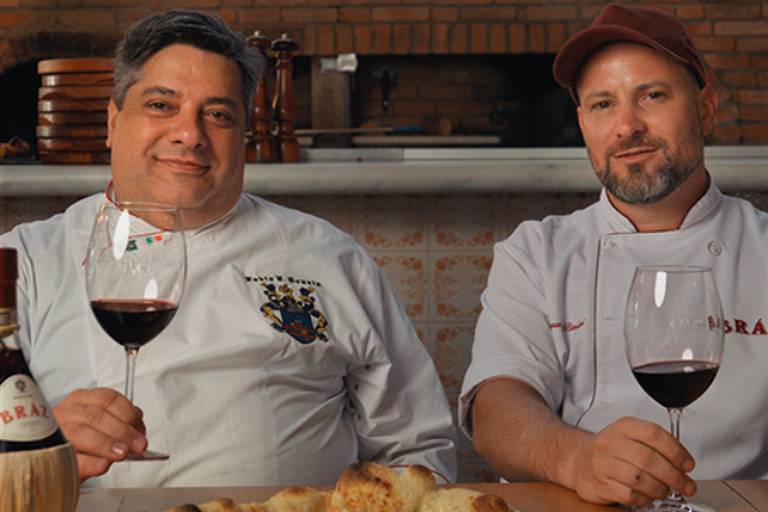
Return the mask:
[[[125,348],[125,396],[133,402],[139,348],[168,325],[181,301],[187,274],[178,208],[105,201],[96,214],[85,263],[91,310],[104,331]],[[146,450],[130,460],[165,460]]]

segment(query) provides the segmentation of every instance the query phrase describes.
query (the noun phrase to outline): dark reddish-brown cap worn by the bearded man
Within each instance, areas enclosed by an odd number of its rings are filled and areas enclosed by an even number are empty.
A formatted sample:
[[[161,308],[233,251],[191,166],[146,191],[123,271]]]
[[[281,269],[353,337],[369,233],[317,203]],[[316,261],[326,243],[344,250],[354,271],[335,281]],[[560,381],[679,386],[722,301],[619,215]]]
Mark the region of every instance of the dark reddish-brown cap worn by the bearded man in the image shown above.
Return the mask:
[[[706,83],[704,59],[680,20],[657,9],[620,4],[606,5],[589,28],[565,42],[555,57],[555,80],[577,100],[573,87],[586,60],[601,46],[620,42],[650,46],[689,68],[700,86]]]

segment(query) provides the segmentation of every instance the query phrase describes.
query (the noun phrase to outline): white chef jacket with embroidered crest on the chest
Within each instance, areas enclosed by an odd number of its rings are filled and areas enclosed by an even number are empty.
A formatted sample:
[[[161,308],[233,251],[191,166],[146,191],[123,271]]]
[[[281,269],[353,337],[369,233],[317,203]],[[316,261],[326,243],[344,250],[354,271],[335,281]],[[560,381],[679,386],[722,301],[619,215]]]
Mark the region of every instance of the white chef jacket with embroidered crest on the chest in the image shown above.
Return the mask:
[[[0,237],[20,251],[22,348],[52,404],[76,388],[124,386],[123,347],[85,294],[102,199]],[[187,251],[179,310],[136,364],[149,446],[170,460],[117,463],[89,484],[328,485],[358,460],[423,464],[455,478],[455,433],[435,367],[352,238],[244,194],[224,218],[188,232]],[[308,332],[284,328],[287,312],[269,285],[288,287],[283,301],[313,289]]]

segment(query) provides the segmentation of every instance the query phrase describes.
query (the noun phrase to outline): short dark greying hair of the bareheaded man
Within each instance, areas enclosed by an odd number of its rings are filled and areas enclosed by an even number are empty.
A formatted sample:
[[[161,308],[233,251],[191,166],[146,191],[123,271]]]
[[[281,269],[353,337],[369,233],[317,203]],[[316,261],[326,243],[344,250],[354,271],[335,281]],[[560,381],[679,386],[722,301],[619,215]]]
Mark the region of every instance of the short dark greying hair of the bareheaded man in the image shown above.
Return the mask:
[[[115,87],[112,98],[122,109],[128,89],[139,79],[141,67],[155,53],[172,44],[187,44],[232,60],[240,69],[240,97],[245,107],[246,126],[251,118],[253,93],[263,67],[259,53],[245,38],[216,15],[173,9],[153,14],[128,28],[117,44]]]

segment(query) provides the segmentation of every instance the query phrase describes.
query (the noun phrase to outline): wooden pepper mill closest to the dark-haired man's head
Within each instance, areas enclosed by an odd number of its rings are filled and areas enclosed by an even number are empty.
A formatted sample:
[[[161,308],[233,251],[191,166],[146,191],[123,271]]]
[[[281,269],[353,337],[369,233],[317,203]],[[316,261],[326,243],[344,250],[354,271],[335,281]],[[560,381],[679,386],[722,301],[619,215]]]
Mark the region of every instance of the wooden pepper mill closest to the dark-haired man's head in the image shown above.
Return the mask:
[[[245,157],[249,162],[274,162],[277,160],[277,150],[272,137],[270,124],[272,111],[267,90],[267,49],[271,41],[260,31],[255,31],[246,41],[255,47],[264,59],[264,71],[261,73],[256,92],[253,95],[253,112],[251,112],[251,140],[245,146]]]

